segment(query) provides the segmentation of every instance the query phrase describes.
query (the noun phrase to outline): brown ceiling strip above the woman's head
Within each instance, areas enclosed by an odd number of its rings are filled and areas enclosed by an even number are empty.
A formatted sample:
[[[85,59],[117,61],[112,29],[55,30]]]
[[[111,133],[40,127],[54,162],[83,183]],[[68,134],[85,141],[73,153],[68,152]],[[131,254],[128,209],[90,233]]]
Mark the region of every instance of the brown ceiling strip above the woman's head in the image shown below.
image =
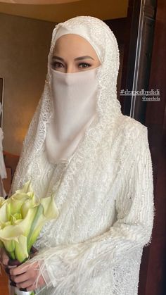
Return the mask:
[[[91,15],[101,20],[127,17],[128,0],[71,0],[63,4],[7,4],[0,1],[0,13],[60,23],[77,15]]]

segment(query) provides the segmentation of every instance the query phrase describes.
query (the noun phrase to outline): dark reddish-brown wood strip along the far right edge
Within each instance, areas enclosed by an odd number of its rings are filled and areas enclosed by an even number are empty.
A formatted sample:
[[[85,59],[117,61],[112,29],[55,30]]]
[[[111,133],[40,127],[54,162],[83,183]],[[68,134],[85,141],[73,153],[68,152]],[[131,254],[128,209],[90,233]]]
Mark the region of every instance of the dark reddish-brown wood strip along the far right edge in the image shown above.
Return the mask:
[[[143,253],[140,295],[165,295],[166,277],[166,2],[158,0],[149,89],[160,89],[160,101],[147,105],[146,126],[153,160],[155,220],[148,252]]]

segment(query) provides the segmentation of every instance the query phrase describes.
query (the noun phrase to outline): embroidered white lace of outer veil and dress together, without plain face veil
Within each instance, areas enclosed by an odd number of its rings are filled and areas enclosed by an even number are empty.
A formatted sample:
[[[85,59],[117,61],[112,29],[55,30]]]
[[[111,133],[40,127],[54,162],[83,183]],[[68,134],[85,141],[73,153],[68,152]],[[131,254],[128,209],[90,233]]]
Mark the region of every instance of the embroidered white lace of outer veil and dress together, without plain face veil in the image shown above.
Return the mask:
[[[75,153],[53,165],[44,151],[51,120],[50,63],[58,27],[87,27],[101,47],[98,118]],[[143,246],[153,226],[153,172],[147,128],[122,115],[116,83],[119,51],[110,28],[82,16],[56,25],[44,92],[23,144],[12,190],[27,180],[39,198],[54,194],[58,220],[48,222],[35,246],[46,287],[41,295],[136,295]]]

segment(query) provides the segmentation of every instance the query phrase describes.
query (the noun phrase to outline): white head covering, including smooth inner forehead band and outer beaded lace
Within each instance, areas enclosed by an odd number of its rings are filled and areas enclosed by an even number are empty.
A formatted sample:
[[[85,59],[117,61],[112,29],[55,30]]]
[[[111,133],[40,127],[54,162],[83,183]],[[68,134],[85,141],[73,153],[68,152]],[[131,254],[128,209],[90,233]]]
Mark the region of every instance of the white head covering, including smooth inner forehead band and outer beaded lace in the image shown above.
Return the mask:
[[[117,100],[117,74],[119,70],[117,41],[108,25],[103,23],[102,20],[91,16],[78,16],[64,23],[59,23],[53,30],[44,92],[41,95],[37,111],[34,113],[34,118],[23,142],[23,151],[15,172],[11,191],[21,187],[27,180],[32,180],[34,189],[36,189],[36,192],[38,190],[37,175],[39,177],[41,175],[39,159],[46,151],[47,134],[53,120],[53,84],[51,81],[53,75],[58,75],[58,77],[62,75],[62,73],[52,73],[50,65],[56,40],[66,31],[72,34],[79,34],[87,39],[96,50],[101,66],[96,69],[96,84],[94,88],[92,87],[91,92],[91,96],[93,96],[95,89],[96,115],[93,116],[91,113],[89,120],[85,120],[82,123],[80,129],[83,132],[81,132],[81,137],[75,142],[77,148],[74,149],[74,152],[72,149],[72,156],[69,156],[67,161],[65,161],[65,168],[61,177],[64,183],[64,177],[67,177],[67,179],[77,177],[80,164],[83,166],[90,165],[86,164],[86,161],[91,161],[91,165],[93,161],[95,163],[94,157],[97,153],[98,155],[101,154],[103,149],[105,149],[103,144],[106,145],[108,142],[110,145],[113,142],[113,130],[115,129],[116,120],[122,115],[120,102]],[[94,75],[94,72],[92,72],[92,75]],[[74,77],[75,74],[71,75],[71,77]],[[82,73],[77,73],[78,75],[81,77]],[[89,75],[91,75],[90,70]],[[56,87],[56,84],[54,85]],[[72,141],[72,139],[70,140]],[[54,168],[58,169],[58,163],[54,164]]]

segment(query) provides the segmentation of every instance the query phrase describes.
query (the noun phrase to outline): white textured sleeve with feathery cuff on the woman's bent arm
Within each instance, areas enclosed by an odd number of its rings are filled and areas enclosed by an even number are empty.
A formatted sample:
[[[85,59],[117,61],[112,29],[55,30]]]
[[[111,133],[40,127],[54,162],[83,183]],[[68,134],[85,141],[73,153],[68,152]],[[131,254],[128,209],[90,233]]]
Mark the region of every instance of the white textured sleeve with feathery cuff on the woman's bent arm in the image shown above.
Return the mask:
[[[124,167],[115,203],[117,220],[110,230],[82,243],[57,246],[36,256],[48,287],[53,285],[58,292],[77,284],[81,290],[86,280],[124,263],[127,256],[132,253],[135,256],[150,241],[153,172],[146,128],[134,142]]]

